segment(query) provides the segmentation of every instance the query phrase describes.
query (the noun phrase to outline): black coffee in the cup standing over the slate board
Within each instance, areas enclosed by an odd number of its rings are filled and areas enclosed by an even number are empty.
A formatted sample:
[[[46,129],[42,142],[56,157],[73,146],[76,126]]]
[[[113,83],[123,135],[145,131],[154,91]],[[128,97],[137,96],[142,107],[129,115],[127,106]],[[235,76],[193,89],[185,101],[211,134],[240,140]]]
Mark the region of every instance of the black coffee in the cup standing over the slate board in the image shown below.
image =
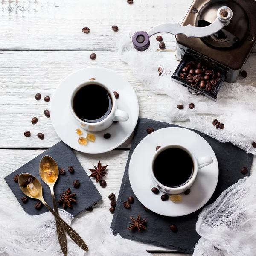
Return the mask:
[[[168,187],[179,187],[192,177],[194,163],[190,155],[180,148],[168,148],[156,157],[153,172],[156,179]]]

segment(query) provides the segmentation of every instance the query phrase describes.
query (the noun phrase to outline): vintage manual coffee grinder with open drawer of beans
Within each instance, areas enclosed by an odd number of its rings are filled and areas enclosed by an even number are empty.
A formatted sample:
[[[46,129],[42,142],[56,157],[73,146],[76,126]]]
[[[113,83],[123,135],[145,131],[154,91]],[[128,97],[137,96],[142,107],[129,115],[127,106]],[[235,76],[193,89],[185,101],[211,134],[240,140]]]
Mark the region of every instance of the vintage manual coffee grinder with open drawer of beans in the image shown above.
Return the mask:
[[[148,49],[149,38],[160,32],[176,36],[180,64],[172,79],[216,101],[223,81],[237,80],[256,42],[256,1],[194,0],[181,26],[166,23],[136,32],[135,49]]]

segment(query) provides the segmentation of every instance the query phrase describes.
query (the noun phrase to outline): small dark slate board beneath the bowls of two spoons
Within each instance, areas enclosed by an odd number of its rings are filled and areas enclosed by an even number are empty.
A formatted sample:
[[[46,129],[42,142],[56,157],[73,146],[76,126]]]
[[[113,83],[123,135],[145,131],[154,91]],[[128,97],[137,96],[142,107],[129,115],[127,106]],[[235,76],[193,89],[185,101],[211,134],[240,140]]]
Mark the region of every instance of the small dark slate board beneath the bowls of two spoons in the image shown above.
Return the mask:
[[[43,197],[45,201],[49,204],[49,206],[53,208],[52,196],[49,186],[41,179],[38,171],[39,162],[41,158],[46,155],[52,157],[56,161],[59,168],[63,167],[66,170],[66,173],[64,175],[59,174],[58,180],[54,186],[56,201],[58,201],[58,199],[60,198],[59,195],[62,194],[63,191],[66,191],[68,188],[71,189],[72,193],[76,193],[76,203],[72,204],[72,208],[66,207],[65,209],[68,213],[75,216],[79,212],[89,208],[94,203],[102,199],[102,196],[99,194],[99,191],[96,189],[93,182],[84,171],[84,168],[79,163],[79,160],[76,158],[72,149],[64,142],[60,141],[48,150],[44,151],[44,153],[40,154],[25,165],[21,166],[15,172],[12,172],[10,175],[5,177],[6,183],[12,189],[12,192],[16,196],[17,200],[20,202],[20,205],[23,207],[25,212],[27,212],[29,215],[39,215],[41,213],[47,212],[48,210],[44,206],[40,210],[35,209],[34,205],[38,201],[36,199],[29,198],[28,202],[25,204],[21,201],[21,197],[24,194],[21,191],[18,183],[14,182],[13,177],[15,174],[21,174],[24,172],[30,173],[37,177],[38,180],[40,180],[43,187]],[[74,167],[73,174],[67,171],[68,166]],[[78,188],[74,188],[72,186],[74,180],[79,180],[80,186]],[[63,209],[62,204],[57,205],[58,208]]]

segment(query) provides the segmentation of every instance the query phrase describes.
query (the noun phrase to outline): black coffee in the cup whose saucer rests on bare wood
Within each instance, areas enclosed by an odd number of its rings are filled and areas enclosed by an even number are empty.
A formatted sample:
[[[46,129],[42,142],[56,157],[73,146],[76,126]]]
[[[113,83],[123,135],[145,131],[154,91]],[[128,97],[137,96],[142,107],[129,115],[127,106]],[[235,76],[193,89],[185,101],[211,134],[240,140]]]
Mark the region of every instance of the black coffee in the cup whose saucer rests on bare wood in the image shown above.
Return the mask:
[[[97,84],[81,87],[73,98],[73,110],[82,121],[96,123],[104,120],[112,109],[108,91]]]

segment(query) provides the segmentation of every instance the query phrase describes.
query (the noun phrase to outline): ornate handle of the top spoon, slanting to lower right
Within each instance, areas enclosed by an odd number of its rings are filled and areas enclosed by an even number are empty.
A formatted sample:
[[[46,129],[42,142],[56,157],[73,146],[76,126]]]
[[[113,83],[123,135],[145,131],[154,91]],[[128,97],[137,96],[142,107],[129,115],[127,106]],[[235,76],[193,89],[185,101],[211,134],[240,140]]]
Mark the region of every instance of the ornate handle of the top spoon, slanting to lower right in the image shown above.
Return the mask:
[[[84,240],[81,239],[81,236],[79,236],[78,233],[76,233],[75,230],[73,230],[70,225],[68,225],[56,212],[53,211],[51,207],[47,204],[46,201],[44,201],[43,198],[41,198],[42,203],[46,206],[46,208],[53,214],[53,216],[56,218],[56,220],[61,224],[61,226],[64,228],[64,230],[67,232],[67,234],[70,236],[70,238],[83,250],[86,252],[88,251],[88,247],[85,244]]]

